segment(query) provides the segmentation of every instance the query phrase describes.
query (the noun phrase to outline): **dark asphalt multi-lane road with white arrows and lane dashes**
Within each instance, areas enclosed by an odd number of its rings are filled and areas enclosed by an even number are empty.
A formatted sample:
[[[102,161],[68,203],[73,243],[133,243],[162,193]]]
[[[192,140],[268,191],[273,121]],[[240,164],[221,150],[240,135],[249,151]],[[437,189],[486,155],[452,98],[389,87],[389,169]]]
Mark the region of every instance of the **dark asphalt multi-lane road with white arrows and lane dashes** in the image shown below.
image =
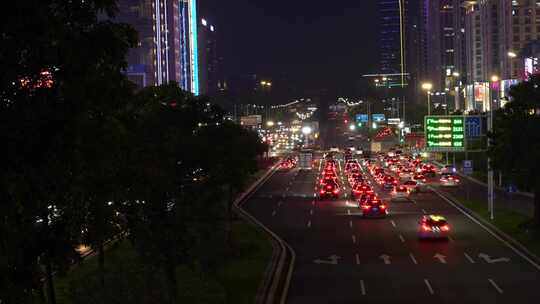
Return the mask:
[[[296,253],[287,303],[540,303],[540,267],[443,197],[421,193],[364,219],[345,195],[316,197],[319,170],[275,172],[244,205]],[[418,239],[433,213],[448,219],[448,241]]]

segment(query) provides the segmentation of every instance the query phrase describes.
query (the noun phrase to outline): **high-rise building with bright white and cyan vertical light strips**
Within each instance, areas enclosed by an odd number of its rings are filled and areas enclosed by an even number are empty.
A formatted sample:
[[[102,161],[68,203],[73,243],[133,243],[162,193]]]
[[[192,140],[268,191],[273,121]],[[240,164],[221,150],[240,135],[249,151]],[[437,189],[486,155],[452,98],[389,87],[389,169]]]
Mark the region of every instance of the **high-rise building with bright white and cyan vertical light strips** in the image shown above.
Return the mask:
[[[131,24],[139,45],[128,55],[129,79],[139,87],[176,81],[199,94],[196,0],[119,0],[117,21]]]

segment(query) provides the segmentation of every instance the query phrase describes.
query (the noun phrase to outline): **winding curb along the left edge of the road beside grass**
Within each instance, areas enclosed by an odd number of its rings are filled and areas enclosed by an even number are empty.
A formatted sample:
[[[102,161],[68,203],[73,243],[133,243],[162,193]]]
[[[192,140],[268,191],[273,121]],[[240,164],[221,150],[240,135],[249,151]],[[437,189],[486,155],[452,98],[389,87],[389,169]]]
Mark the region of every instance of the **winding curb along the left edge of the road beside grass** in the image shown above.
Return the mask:
[[[272,166],[246,191],[240,194],[233,203],[234,211],[242,219],[261,228],[272,241],[272,258],[268,263],[264,279],[261,282],[256,295],[256,303],[260,304],[285,303],[296,261],[296,253],[289,244],[242,208],[242,204],[244,204],[276,172],[277,166],[277,164]]]

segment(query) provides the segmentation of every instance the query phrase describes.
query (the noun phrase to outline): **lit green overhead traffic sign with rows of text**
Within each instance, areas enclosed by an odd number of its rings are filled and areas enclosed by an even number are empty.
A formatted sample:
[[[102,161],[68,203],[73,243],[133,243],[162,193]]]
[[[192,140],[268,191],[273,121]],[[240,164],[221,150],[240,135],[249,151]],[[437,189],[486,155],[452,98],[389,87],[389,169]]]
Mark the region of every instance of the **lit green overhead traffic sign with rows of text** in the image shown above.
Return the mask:
[[[424,128],[427,151],[463,152],[466,150],[464,116],[426,116]]]

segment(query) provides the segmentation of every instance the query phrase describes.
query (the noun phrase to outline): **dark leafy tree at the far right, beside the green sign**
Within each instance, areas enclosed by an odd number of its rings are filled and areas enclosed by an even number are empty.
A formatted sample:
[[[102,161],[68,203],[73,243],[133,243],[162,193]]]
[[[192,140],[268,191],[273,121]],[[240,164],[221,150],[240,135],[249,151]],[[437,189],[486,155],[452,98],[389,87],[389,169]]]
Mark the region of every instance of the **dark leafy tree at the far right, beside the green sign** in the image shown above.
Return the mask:
[[[533,224],[540,226],[540,75],[513,86],[511,101],[495,113],[493,145],[488,151],[493,166],[534,191]]]

